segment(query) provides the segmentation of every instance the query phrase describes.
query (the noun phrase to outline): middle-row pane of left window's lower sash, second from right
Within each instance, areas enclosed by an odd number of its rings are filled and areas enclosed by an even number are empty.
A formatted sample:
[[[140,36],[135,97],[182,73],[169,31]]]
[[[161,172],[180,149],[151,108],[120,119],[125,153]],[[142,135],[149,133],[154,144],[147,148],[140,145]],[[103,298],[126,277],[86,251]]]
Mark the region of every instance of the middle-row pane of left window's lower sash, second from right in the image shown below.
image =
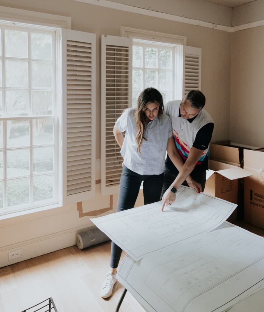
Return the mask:
[[[29,149],[7,151],[7,178],[29,175]]]

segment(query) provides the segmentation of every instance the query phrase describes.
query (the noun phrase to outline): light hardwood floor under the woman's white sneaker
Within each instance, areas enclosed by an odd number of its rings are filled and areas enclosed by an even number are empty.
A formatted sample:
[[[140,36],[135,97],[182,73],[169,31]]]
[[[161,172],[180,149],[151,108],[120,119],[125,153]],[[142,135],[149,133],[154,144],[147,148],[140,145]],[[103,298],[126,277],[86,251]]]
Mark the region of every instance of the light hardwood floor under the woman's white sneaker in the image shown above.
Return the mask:
[[[72,246],[0,268],[0,311],[21,312],[52,297],[58,312],[114,312],[122,285],[115,284],[109,299],[99,296],[109,257],[106,242],[84,250]],[[119,311],[145,310],[127,292]]]

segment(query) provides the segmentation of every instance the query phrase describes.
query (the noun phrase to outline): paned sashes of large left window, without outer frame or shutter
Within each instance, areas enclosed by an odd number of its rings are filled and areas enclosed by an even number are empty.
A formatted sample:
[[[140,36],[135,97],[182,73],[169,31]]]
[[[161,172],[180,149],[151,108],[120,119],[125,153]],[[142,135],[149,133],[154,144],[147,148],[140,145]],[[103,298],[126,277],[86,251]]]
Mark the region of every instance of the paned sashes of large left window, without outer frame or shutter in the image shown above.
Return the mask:
[[[0,25],[0,214],[58,202],[56,33]]]

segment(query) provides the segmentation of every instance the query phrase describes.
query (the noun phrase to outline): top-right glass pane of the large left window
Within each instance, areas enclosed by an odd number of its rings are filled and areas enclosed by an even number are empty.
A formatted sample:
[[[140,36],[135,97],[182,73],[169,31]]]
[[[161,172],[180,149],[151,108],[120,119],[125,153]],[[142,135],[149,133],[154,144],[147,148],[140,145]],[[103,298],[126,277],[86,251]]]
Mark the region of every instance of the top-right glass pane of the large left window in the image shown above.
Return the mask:
[[[51,60],[52,59],[52,35],[31,33],[31,58]]]

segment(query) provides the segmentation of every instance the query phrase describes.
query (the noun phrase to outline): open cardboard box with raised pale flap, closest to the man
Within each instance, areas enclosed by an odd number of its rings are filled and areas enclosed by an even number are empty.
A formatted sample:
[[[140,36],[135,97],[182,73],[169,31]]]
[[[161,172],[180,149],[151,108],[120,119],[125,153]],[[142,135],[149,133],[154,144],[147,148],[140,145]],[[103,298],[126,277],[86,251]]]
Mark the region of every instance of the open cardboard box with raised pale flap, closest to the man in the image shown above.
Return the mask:
[[[238,204],[238,179],[252,173],[238,166],[209,160],[206,172],[204,193]],[[237,220],[237,209],[228,218],[229,222]]]

